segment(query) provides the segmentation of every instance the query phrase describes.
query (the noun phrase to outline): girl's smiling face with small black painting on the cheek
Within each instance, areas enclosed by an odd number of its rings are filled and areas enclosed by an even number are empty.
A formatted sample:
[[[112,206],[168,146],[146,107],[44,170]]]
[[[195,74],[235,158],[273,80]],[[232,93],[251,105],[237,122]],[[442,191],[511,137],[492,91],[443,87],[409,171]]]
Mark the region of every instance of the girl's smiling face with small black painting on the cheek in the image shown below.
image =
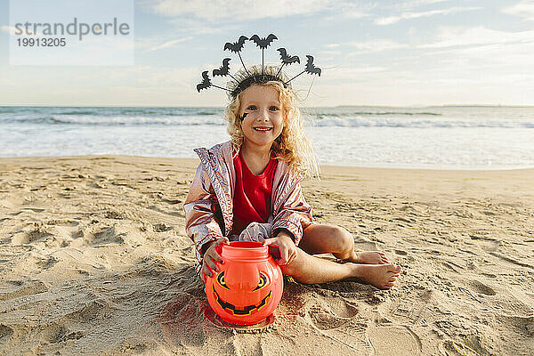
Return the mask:
[[[244,144],[260,147],[269,146],[284,128],[279,93],[271,85],[250,85],[240,94],[239,117]]]

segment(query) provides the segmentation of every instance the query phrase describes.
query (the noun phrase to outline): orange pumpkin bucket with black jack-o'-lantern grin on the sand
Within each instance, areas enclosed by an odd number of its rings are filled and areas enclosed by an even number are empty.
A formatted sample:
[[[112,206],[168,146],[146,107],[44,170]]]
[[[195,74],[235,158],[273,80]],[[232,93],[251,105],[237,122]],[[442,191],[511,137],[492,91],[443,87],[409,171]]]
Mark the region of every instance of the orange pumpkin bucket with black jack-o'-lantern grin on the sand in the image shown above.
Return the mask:
[[[279,265],[260,242],[232,241],[220,245],[224,263],[206,278],[207,302],[226,322],[254,325],[269,317],[284,290]]]

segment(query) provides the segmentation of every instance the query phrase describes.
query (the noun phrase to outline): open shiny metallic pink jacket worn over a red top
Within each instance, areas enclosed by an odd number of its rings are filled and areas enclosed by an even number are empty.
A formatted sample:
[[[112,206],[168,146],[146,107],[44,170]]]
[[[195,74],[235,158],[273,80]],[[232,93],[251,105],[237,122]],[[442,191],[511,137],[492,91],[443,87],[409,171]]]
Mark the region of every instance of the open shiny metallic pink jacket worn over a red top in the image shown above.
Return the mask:
[[[230,238],[236,180],[233,158],[238,151],[229,141],[195,152],[200,164],[183,208],[185,231],[195,243],[200,271],[203,245],[223,236]],[[302,176],[291,174],[287,164],[279,161],[272,182],[271,236],[279,229],[287,229],[295,237],[295,245],[302,239],[303,229],[312,224],[312,207],[304,200],[301,181]]]

